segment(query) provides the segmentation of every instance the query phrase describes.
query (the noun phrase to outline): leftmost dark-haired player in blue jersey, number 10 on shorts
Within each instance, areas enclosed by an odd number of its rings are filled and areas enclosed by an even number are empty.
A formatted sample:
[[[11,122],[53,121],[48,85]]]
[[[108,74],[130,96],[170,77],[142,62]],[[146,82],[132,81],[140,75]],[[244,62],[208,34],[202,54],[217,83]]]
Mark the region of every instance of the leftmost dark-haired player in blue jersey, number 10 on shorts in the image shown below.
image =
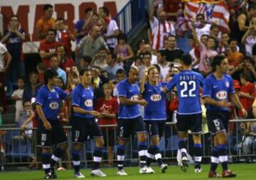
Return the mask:
[[[36,96],[36,112],[38,114],[38,142],[42,148],[42,164],[46,173],[45,179],[56,179],[54,165],[63,156],[68,147],[68,139],[58,119],[61,100],[68,98],[68,93],[55,86],[58,73],[47,69],[43,74],[45,85],[38,90]],[[50,158],[50,148],[57,145]]]

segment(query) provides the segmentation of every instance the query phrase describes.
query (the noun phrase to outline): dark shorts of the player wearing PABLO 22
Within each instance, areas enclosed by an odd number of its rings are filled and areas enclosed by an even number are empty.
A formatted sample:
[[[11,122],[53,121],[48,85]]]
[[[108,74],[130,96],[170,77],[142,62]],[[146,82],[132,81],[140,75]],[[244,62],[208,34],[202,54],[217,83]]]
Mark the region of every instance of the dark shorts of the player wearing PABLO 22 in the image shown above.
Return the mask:
[[[191,133],[198,134],[202,132],[202,113],[196,114],[178,114],[177,113],[177,127],[178,133]]]

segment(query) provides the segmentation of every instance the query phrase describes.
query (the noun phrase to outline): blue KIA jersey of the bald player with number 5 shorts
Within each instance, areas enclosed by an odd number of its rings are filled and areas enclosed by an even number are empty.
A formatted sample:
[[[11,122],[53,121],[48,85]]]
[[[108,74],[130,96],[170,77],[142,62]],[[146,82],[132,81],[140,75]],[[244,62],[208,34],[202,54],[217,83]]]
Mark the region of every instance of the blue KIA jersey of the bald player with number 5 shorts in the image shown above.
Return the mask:
[[[120,81],[117,86],[118,96],[126,99],[137,100],[139,98],[138,84],[130,84],[128,79]],[[124,105],[119,104],[118,118],[131,119],[141,116],[139,111],[139,104]]]

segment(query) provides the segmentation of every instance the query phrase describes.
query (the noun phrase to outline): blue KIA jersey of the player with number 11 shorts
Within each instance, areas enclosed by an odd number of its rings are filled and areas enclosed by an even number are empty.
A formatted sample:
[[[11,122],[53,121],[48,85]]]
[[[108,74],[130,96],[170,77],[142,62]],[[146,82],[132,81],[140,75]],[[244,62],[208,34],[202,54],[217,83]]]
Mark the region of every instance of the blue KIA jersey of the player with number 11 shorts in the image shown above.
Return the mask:
[[[94,93],[91,86],[85,89],[82,84],[78,84],[72,91],[72,106],[78,106],[86,111],[93,111]],[[75,117],[80,118],[93,118],[90,114],[74,113]]]

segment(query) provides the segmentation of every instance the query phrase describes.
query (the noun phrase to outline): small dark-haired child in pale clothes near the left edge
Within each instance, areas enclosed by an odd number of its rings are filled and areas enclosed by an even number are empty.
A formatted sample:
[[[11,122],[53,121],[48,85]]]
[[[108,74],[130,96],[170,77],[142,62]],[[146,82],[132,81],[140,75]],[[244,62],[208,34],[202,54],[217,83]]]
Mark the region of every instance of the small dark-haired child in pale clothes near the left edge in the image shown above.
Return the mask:
[[[15,103],[15,108],[16,108],[16,113],[15,113],[15,122],[18,122],[18,119],[21,116],[21,111],[23,111],[23,91],[24,91],[24,84],[25,80],[22,78],[18,78],[17,85],[18,89],[14,91],[13,94],[11,94],[11,99],[16,101]]]

